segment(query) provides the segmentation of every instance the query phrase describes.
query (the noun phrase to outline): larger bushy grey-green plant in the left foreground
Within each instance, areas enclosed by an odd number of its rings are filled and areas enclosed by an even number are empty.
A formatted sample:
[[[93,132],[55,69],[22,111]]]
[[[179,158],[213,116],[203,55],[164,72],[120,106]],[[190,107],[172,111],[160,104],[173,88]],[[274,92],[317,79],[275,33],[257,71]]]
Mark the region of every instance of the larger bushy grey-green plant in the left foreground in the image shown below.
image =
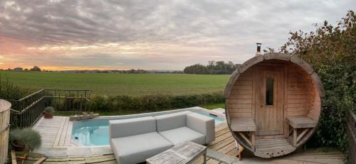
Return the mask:
[[[41,146],[42,142],[40,133],[31,128],[11,131],[10,141],[15,151],[24,151],[26,153]]]

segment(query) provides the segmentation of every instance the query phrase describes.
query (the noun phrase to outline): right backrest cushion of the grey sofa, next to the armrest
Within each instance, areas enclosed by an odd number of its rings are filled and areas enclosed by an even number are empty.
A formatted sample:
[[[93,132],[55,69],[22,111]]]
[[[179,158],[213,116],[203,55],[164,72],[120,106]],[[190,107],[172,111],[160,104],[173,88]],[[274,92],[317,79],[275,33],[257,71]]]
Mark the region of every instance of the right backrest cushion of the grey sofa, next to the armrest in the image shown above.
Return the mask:
[[[167,131],[187,126],[187,114],[192,111],[181,111],[173,114],[155,116],[157,120],[157,131]]]

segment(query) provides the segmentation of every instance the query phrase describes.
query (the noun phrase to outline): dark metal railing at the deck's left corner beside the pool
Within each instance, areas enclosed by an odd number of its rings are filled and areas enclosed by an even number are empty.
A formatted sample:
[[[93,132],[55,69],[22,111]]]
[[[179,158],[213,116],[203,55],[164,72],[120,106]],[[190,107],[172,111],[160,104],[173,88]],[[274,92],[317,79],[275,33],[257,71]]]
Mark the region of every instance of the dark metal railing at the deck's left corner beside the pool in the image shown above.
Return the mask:
[[[90,90],[41,89],[19,100],[11,102],[11,129],[31,127],[43,116],[46,106],[53,106],[56,112],[78,113],[88,111]]]

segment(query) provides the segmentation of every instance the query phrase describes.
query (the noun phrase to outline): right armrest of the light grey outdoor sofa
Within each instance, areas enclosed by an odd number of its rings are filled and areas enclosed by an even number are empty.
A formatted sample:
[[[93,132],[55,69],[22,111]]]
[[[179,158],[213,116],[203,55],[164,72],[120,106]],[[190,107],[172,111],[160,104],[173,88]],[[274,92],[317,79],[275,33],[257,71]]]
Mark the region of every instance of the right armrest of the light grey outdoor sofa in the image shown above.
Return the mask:
[[[215,120],[208,116],[191,113],[187,114],[187,126],[205,135],[205,143],[215,140]]]

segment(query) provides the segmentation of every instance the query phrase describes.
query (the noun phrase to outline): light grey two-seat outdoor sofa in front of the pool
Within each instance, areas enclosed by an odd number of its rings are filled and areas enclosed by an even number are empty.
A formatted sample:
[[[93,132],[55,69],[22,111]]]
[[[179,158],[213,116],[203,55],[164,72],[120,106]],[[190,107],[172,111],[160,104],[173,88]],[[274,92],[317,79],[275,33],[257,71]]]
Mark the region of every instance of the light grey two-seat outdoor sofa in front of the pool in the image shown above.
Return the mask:
[[[191,111],[110,120],[110,146],[117,163],[142,163],[185,141],[204,145],[215,139],[214,119]]]

